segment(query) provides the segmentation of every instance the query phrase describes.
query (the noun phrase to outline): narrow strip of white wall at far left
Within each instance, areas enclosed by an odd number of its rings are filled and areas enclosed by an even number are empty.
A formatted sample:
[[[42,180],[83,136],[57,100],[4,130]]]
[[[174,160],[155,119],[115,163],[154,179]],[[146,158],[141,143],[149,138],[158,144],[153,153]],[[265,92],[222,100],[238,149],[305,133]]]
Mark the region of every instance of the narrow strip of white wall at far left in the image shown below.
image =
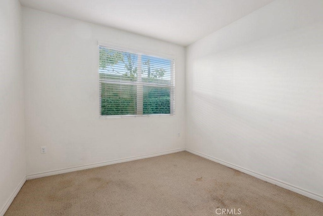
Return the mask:
[[[0,215],[26,176],[21,6],[0,1]]]

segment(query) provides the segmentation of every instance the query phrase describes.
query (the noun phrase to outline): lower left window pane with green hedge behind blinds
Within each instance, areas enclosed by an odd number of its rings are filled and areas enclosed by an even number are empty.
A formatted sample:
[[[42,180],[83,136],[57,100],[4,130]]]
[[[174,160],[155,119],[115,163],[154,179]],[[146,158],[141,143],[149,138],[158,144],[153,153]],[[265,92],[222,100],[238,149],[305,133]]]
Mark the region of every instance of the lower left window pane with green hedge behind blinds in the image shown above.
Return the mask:
[[[100,83],[101,115],[135,115],[136,85]]]

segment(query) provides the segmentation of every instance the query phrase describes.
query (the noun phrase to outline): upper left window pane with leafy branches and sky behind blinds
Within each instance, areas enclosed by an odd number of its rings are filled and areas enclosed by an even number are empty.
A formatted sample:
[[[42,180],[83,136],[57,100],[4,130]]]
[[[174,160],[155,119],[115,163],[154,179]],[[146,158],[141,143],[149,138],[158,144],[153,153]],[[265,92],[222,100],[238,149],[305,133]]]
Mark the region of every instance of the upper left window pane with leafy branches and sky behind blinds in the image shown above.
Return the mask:
[[[100,79],[137,81],[138,55],[99,47]]]

